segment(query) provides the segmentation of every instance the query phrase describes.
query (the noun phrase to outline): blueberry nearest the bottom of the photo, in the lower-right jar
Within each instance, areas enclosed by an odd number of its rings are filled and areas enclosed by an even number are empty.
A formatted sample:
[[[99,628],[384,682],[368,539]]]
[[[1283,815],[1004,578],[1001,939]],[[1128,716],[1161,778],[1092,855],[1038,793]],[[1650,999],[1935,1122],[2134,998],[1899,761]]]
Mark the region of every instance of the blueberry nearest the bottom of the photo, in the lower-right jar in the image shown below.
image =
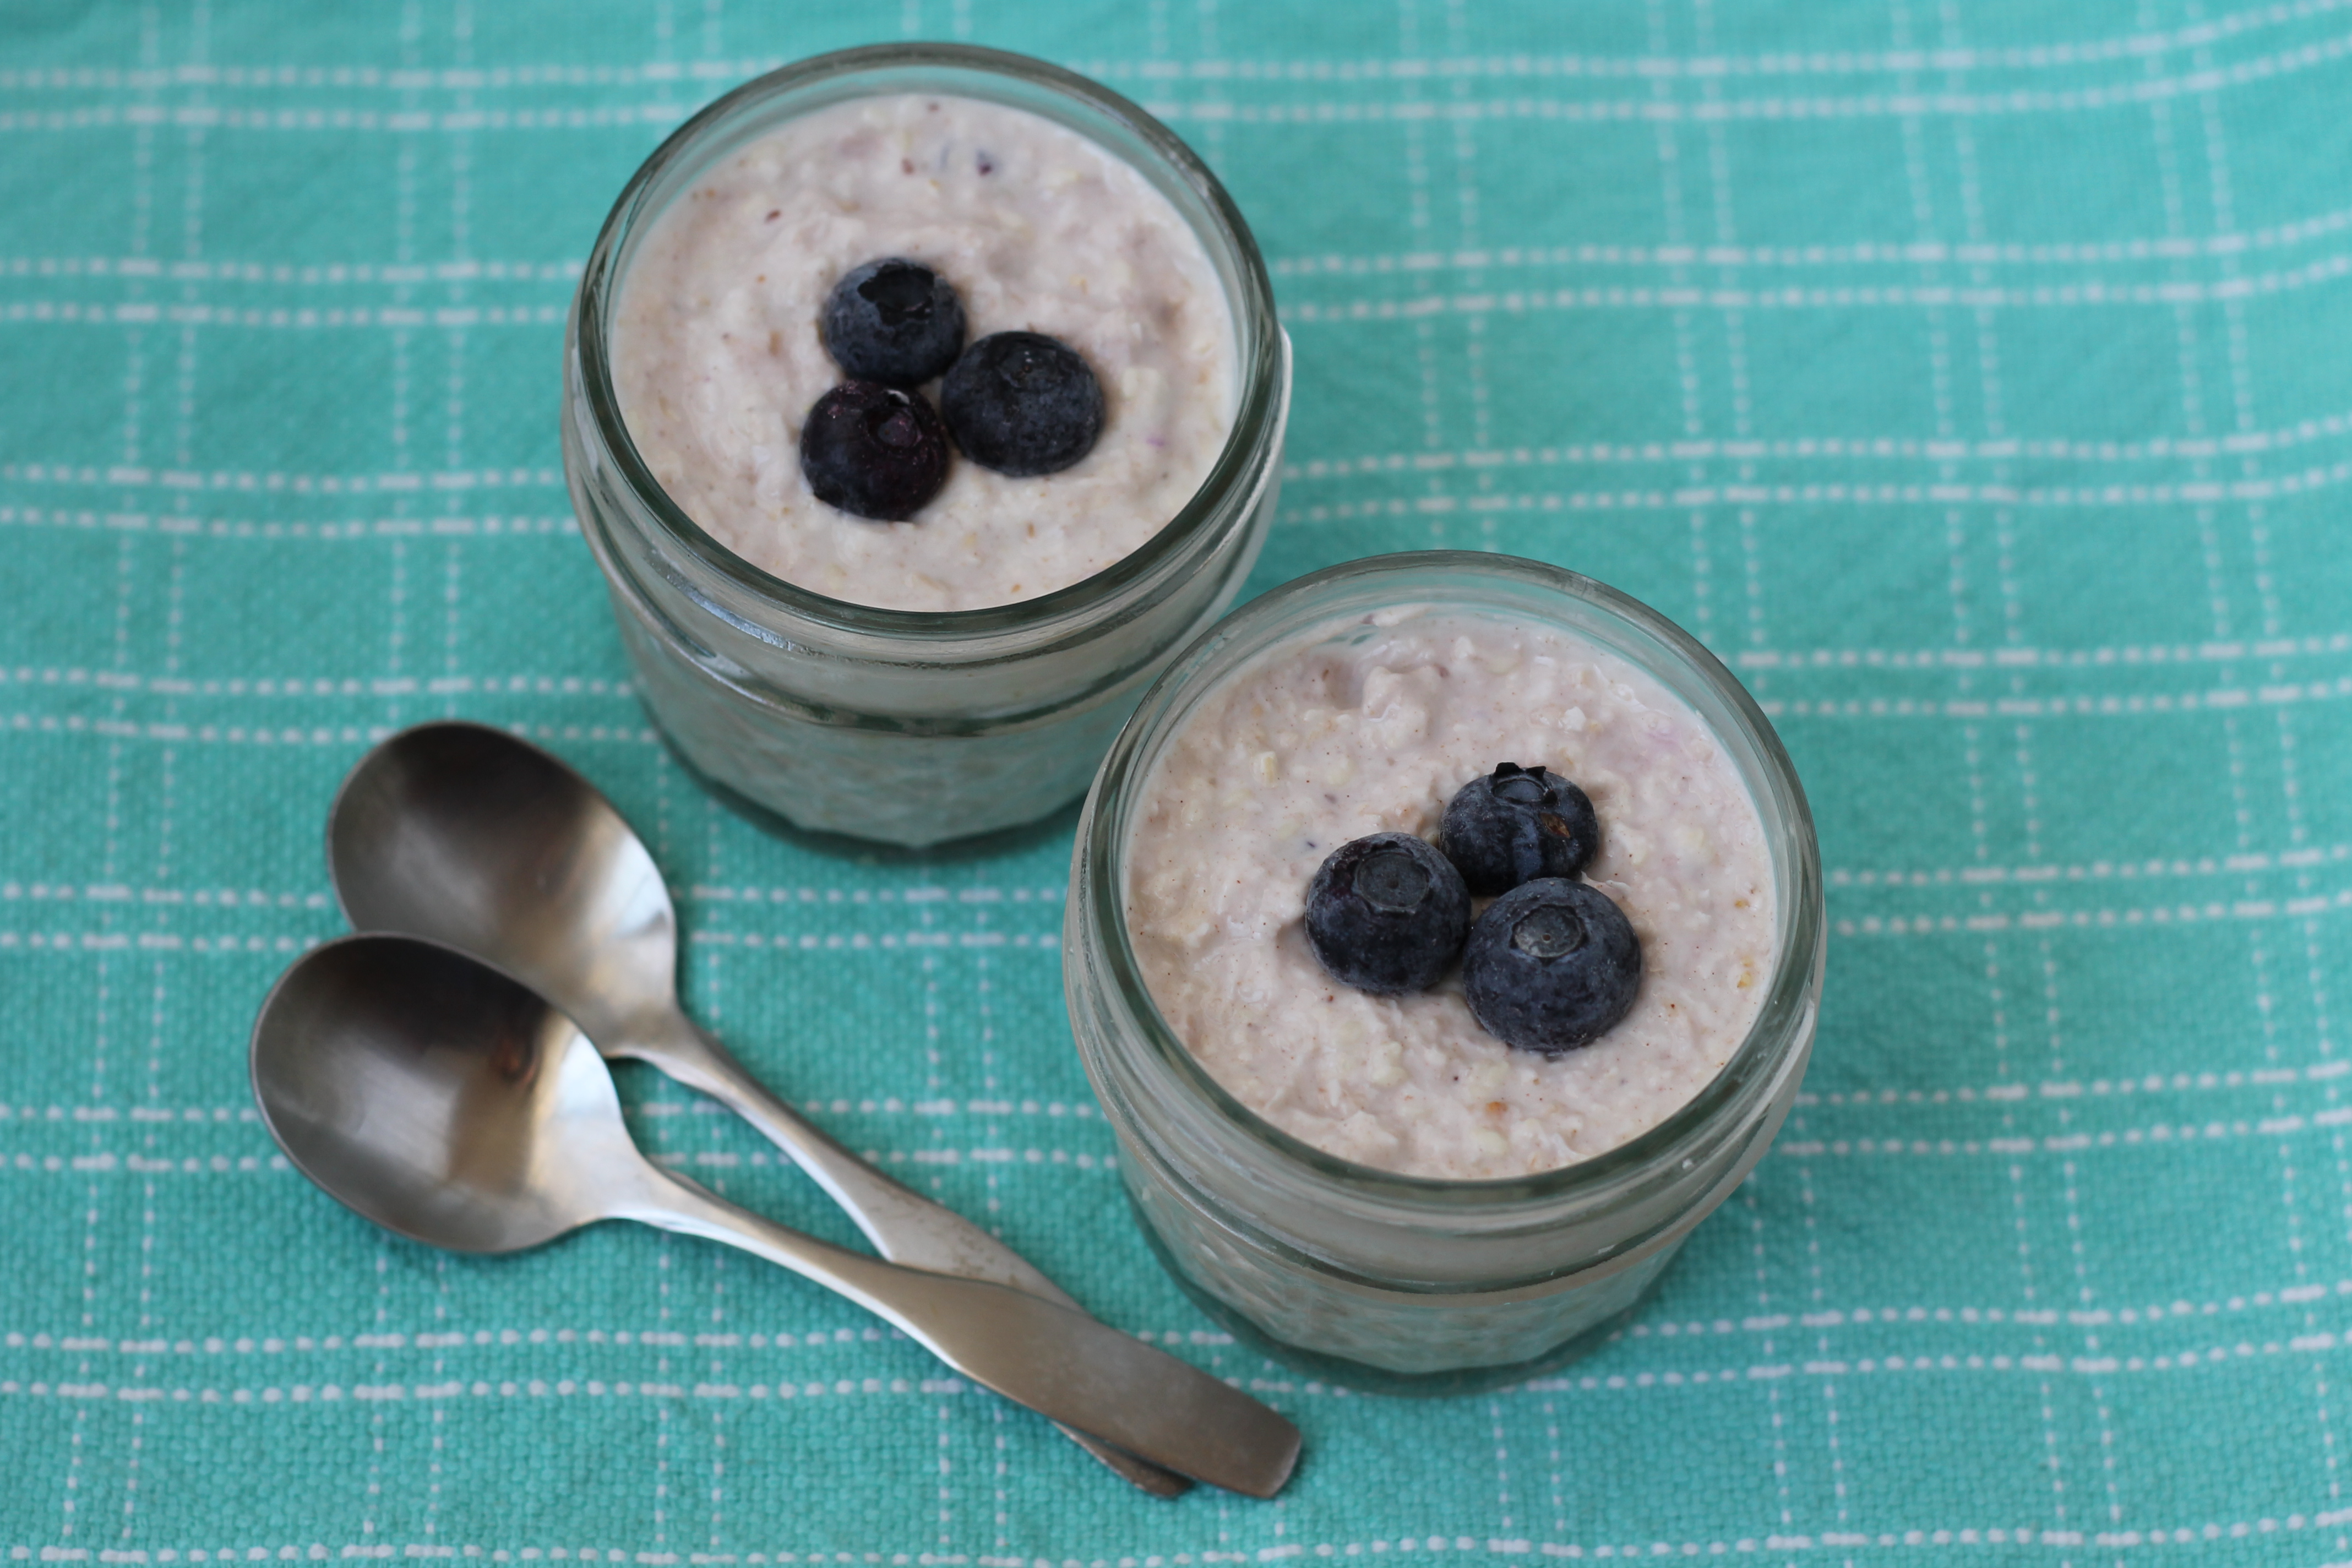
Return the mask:
[[[1463,950],[1463,992],[1505,1046],[1559,1056],[1599,1039],[1642,987],[1642,938],[1588,882],[1538,877],[1486,905]]]

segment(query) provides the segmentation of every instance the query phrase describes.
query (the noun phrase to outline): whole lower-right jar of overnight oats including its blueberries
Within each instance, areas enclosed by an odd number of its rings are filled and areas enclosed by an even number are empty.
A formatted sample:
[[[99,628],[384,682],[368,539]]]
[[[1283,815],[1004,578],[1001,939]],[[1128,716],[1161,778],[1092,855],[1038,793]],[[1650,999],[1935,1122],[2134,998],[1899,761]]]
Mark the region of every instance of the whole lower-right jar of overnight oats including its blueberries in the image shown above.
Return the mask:
[[[1359,1387],[1522,1378],[1762,1157],[1820,985],[1804,795],[1653,611],[1491,555],[1188,649],[1080,825],[1070,1018],[1162,1260]]]

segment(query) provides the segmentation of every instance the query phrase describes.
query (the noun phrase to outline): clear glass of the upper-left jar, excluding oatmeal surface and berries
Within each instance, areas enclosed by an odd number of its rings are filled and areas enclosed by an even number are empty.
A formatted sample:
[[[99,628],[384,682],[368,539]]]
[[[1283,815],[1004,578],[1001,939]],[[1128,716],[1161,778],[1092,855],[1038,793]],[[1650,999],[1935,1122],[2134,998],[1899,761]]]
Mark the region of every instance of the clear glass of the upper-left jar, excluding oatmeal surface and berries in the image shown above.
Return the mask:
[[[1023,604],[896,611],[786,583],[720,545],[647,470],[612,386],[637,240],[720,158],[842,99],[938,92],[1056,120],[1134,165],[1200,235],[1235,327],[1235,421],[1143,548]],[[753,816],[894,844],[1035,820],[1080,790],[1143,686],[1232,602],[1265,538],[1289,341],[1232,197],[1127,99],[1018,54],[844,49],[748,82],[644,160],[597,235],[564,346],[564,477],[654,724]]]

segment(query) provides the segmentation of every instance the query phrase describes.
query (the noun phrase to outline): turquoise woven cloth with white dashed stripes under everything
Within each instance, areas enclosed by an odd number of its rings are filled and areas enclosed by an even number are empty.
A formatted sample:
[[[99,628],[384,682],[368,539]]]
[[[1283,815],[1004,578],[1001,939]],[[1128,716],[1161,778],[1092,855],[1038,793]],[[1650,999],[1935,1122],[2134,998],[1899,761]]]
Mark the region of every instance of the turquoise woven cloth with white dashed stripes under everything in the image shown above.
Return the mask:
[[[1070,1048],[1073,813],[779,842],[628,691],[557,473],[579,263],[694,106],[896,35],[1134,94],[1256,223],[1298,390],[1254,590],[1562,562],[1797,757],[1806,1098],[1555,1378],[1409,1403],[1214,1333]],[[2347,0],[9,7],[0,1554],[2352,1556],[2347,103]],[[341,931],[336,780],[435,715],[614,795],[771,1084],[1294,1415],[1282,1500],[1131,1495],[713,1246],[440,1255],[287,1171],[247,1027]]]

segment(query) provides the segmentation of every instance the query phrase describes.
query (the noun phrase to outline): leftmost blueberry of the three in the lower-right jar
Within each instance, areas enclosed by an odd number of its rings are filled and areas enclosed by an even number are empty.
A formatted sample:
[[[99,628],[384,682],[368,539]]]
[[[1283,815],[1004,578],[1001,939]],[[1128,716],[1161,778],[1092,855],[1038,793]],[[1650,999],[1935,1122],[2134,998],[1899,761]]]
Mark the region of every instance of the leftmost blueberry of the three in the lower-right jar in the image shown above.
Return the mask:
[[[1308,884],[1308,945],[1341,985],[1395,997],[1437,985],[1470,931],[1461,872],[1409,832],[1331,851]]]

